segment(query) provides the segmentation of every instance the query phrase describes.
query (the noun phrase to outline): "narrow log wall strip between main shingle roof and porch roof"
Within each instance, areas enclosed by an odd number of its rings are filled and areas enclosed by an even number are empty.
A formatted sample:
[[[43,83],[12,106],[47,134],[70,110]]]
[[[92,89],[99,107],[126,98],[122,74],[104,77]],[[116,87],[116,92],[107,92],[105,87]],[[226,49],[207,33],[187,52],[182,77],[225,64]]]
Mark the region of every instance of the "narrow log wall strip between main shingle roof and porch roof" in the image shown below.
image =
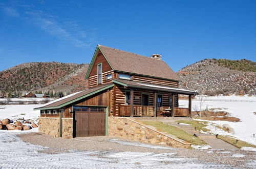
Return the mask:
[[[144,77],[144,76],[138,76],[134,75],[133,81],[139,81],[139,82],[146,82],[146,83],[152,83],[156,85],[164,85],[164,86],[170,86],[170,87],[179,87],[178,81],[172,81],[172,80],[163,80],[158,78],[151,78],[151,77]]]

